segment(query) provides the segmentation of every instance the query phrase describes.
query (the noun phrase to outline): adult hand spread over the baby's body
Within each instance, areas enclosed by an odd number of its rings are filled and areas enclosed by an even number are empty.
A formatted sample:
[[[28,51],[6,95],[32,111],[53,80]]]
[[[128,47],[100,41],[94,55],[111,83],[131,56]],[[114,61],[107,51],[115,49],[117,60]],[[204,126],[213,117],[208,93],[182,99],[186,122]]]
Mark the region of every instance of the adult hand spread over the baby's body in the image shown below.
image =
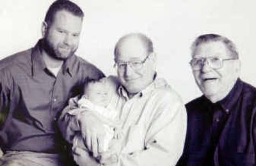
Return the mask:
[[[97,158],[103,151],[106,135],[102,121],[90,111],[79,114],[77,120],[87,149]]]

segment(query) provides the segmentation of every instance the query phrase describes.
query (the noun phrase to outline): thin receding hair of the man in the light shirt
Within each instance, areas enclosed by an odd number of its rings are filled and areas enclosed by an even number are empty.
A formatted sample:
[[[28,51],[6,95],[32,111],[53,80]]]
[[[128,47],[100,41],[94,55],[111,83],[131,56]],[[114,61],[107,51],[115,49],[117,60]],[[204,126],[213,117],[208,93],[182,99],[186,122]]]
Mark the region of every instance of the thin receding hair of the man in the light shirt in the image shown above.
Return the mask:
[[[131,37],[140,39],[142,41],[142,43],[145,45],[145,48],[147,49],[148,54],[154,52],[152,40],[150,40],[150,38],[148,38],[145,34],[129,33],[129,34],[126,34],[125,36],[122,36],[122,38],[120,38],[117,41],[117,43],[115,45],[115,50],[114,50],[115,61],[116,61],[116,57],[119,55],[119,47],[120,47],[121,43],[123,41],[125,41],[127,38],[131,38]]]

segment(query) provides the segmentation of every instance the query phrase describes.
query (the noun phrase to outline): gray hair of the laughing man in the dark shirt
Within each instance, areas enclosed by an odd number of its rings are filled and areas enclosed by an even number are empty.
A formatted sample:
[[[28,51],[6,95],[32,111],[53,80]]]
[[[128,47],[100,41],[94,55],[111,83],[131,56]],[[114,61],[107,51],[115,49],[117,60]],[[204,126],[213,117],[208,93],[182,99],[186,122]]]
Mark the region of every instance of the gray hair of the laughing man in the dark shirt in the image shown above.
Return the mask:
[[[211,41],[221,41],[223,44],[225,44],[227,49],[230,51],[231,56],[233,56],[236,59],[239,59],[236,45],[225,36],[221,36],[219,34],[203,34],[201,36],[198,36],[196,40],[193,42],[193,44],[191,45],[192,55],[195,54],[195,49],[196,47],[198,47],[198,45],[202,43],[209,43]]]

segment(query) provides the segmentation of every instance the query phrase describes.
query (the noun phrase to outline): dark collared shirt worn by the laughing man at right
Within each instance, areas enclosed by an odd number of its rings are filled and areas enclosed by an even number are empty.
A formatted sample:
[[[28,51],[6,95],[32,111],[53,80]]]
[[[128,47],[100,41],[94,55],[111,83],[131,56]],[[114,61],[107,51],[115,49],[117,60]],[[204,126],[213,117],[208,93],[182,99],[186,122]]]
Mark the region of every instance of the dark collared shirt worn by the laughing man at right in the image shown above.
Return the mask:
[[[188,130],[178,165],[255,165],[256,89],[237,79],[228,96],[186,104]]]

